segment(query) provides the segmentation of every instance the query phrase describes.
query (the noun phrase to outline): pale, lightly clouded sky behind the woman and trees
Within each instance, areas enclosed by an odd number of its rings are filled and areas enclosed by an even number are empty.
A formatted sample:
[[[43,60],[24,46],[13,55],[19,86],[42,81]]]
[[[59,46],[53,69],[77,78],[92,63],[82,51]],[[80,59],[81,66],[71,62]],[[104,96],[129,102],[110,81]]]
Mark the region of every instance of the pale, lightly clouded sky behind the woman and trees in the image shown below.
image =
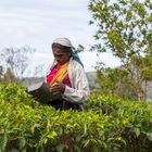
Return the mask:
[[[79,53],[86,72],[93,72],[96,63],[117,66],[112,54],[97,55],[89,48],[96,43],[96,27],[89,25],[89,0],[0,0],[0,51],[3,48],[30,46],[37,51],[30,59],[30,67],[52,62],[51,43],[58,37],[68,38],[74,47],[83,45]]]

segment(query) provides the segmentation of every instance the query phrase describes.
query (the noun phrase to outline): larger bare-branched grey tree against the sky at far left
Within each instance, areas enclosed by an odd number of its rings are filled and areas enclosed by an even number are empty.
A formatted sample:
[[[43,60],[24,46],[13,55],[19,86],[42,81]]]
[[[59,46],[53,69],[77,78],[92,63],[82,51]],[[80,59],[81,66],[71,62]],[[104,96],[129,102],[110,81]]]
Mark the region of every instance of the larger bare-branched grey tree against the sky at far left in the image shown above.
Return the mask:
[[[29,59],[35,49],[26,46],[23,48],[5,48],[0,52],[1,64],[5,67],[7,73],[17,79],[22,78],[29,64]]]

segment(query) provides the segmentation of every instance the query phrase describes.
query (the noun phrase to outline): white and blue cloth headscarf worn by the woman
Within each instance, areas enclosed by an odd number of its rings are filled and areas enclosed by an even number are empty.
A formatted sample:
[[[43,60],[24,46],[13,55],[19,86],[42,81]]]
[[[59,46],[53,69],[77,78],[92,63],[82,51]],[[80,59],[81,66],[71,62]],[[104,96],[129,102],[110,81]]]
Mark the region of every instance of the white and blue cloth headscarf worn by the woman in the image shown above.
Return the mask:
[[[79,55],[78,55],[77,51],[75,50],[75,48],[73,47],[73,45],[72,45],[69,39],[67,39],[67,38],[56,38],[56,39],[53,40],[53,43],[59,43],[61,46],[65,46],[65,47],[72,48],[72,50],[73,50],[73,53],[72,53],[73,58],[78,63],[80,63],[81,66],[84,67],[84,64],[83,64],[81,60],[79,59]]]

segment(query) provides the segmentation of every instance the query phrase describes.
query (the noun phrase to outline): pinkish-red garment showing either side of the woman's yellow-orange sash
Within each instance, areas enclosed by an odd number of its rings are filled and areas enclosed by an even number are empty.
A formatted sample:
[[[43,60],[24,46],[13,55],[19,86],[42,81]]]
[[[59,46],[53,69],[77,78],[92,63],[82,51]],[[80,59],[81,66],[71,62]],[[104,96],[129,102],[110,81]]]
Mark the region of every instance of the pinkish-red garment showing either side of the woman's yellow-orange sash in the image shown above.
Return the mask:
[[[51,69],[51,72],[47,75],[47,84],[51,83],[51,80],[53,79],[53,76],[58,73],[60,67],[61,67],[61,65],[54,66],[54,68]],[[72,87],[72,84],[71,84],[68,75],[66,75],[66,77],[63,79],[62,83],[65,84],[68,87]]]

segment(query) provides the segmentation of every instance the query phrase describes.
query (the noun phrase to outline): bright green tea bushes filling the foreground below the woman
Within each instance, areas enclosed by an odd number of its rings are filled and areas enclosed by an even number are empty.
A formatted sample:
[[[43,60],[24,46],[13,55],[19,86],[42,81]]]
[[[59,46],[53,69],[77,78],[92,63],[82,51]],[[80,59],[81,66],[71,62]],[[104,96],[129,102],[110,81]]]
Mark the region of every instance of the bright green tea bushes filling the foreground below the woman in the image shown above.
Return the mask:
[[[92,94],[87,111],[56,111],[16,85],[0,86],[0,151],[147,152],[152,104]]]

